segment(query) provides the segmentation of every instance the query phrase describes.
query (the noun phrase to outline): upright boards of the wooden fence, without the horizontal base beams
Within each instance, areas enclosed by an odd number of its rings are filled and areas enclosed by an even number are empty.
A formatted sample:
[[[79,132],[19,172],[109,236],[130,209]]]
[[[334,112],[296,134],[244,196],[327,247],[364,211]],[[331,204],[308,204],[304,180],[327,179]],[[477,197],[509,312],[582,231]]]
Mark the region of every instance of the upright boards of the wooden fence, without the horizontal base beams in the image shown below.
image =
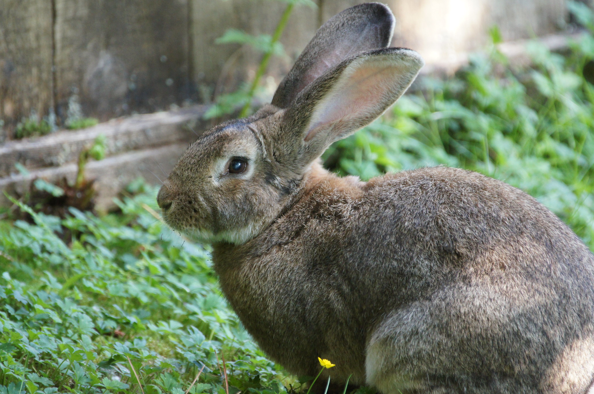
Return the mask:
[[[385,1],[385,0],[384,0]],[[359,0],[296,7],[271,65],[278,82],[323,21]],[[388,0],[394,44],[451,69],[500,27],[504,40],[563,29],[564,0]],[[215,44],[228,28],[271,34],[273,0],[0,0],[0,142],[26,118],[61,126],[68,111],[108,120],[208,102],[253,75],[257,54]]]

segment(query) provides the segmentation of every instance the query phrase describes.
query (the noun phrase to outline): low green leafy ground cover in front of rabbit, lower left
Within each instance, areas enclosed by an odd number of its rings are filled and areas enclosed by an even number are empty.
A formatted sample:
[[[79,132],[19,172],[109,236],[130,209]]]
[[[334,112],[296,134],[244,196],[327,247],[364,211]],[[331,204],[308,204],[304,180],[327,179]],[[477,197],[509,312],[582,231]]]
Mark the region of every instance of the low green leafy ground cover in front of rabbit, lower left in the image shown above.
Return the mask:
[[[15,201],[34,223],[0,227],[0,393],[182,394],[200,370],[189,393],[285,391],[154,197],[64,220]]]

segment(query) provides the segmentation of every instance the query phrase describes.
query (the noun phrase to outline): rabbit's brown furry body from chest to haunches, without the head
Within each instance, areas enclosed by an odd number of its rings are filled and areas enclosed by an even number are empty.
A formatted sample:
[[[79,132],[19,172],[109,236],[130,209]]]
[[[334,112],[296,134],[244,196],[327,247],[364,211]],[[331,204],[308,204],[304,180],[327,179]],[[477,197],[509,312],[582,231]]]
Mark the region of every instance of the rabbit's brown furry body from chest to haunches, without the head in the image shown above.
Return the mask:
[[[593,257],[538,201],[445,167],[324,179],[257,238],[215,248],[223,291],[271,357],[297,374],[327,357],[335,377],[383,392],[555,392],[555,373],[585,387]]]

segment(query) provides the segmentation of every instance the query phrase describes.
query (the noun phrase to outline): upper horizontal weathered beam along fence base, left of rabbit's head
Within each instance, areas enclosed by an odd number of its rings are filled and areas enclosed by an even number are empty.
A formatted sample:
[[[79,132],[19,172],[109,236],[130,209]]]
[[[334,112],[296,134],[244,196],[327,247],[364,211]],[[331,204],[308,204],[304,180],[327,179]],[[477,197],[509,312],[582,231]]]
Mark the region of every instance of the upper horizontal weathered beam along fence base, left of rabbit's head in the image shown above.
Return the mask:
[[[206,108],[197,105],[181,110],[113,119],[89,129],[62,131],[33,139],[0,145],[0,177],[17,174],[16,163],[27,169],[60,166],[75,162],[94,139],[106,137],[106,155],[135,149],[189,142],[203,131],[201,116]]]

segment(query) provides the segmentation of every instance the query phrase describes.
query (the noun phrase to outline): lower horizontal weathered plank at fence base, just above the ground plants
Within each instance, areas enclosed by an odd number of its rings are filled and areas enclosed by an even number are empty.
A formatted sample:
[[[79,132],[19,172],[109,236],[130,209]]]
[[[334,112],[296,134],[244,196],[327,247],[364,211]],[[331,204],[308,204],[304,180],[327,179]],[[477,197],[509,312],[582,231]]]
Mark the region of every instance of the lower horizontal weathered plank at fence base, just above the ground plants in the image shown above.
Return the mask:
[[[160,175],[165,178],[165,174],[169,174],[179,155],[187,147],[187,143],[179,143],[161,148],[135,150],[101,161],[89,162],[86,175],[87,178],[96,180],[94,184],[97,191],[96,209],[112,208],[113,197],[118,196],[118,193],[137,177],[143,177],[152,184],[159,184]],[[36,178],[56,182],[66,177],[70,182],[74,182],[76,173],[77,166],[71,163],[32,171],[29,175],[13,175],[0,179],[0,191],[5,191],[12,196],[23,196],[29,191],[31,181]],[[10,206],[10,204],[4,193],[0,193],[0,206]]]

